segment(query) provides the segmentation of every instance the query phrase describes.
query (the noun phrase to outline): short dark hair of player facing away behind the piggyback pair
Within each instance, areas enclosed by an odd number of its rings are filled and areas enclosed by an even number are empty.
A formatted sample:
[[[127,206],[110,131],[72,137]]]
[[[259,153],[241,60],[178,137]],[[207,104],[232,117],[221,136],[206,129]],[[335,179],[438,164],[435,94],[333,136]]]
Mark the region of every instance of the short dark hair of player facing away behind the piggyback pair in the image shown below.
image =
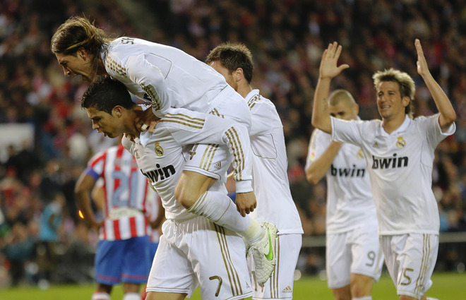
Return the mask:
[[[253,71],[252,54],[244,44],[230,42],[220,44],[210,51],[205,59],[206,64],[210,64],[213,61],[220,61],[220,64],[225,66],[229,73],[237,71],[237,68],[242,68],[244,78],[248,83],[251,83]]]

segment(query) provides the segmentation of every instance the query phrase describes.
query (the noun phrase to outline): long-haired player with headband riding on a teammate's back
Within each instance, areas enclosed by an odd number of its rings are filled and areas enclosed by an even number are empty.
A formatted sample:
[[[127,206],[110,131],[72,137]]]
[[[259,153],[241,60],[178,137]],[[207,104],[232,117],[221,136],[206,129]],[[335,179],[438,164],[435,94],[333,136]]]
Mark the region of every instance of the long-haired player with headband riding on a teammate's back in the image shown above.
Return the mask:
[[[112,39],[88,19],[71,17],[54,33],[51,50],[65,76],[79,75],[93,81],[99,75],[109,75],[124,83],[136,97],[152,103],[152,109],[138,116],[138,120],[148,123],[156,116],[165,116],[169,107],[184,107],[251,126],[246,102],[229,87],[225,78],[180,49],[133,37]],[[147,127],[144,121],[136,124],[138,128]],[[150,124],[149,131],[152,131],[155,122]],[[208,152],[208,145],[193,146],[175,189],[177,200],[187,208],[201,201],[210,180],[201,172],[193,172],[200,169]],[[244,216],[256,208],[252,179],[244,176],[234,180],[236,204]],[[210,199],[203,198],[203,202]]]

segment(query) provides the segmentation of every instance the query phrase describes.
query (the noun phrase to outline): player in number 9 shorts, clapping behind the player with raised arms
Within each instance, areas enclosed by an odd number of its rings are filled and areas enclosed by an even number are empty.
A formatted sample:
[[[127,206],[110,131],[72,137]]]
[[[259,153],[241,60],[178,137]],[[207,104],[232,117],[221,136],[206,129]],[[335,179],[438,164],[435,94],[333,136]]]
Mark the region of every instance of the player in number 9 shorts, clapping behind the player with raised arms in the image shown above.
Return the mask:
[[[347,90],[328,97],[330,116],[360,120],[359,107]],[[306,179],[327,180],[325,267],[328,287],[337,300],[370,300],[381,276],[383,254],[378,242],[376,206],[362,149],[337,143],[314,129],[306,160]]]

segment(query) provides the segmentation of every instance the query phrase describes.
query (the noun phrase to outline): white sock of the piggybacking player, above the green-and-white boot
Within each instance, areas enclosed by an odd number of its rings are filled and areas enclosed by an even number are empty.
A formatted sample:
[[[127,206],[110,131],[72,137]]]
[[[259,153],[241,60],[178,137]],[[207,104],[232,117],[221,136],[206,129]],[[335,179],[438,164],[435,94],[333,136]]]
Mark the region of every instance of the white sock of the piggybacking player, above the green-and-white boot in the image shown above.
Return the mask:
[[[265,230],[262,229],[259,222],[253,220],[249,215],[241,217],[237,205],[224,193],[206,191],[188,211],[244,236],[249,244],[261,240],[265,234]]]

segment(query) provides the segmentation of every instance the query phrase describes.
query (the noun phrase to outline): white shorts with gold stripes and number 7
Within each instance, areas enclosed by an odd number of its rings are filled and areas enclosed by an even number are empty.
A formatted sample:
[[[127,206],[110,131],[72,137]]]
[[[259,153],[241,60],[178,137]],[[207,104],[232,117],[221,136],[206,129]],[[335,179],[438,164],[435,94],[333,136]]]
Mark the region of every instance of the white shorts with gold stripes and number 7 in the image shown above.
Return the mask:
[[[234,232],[204,217],[162,225],[147,292],[187,294],[202,299],[243,299],[252,295],[246,249]]]

